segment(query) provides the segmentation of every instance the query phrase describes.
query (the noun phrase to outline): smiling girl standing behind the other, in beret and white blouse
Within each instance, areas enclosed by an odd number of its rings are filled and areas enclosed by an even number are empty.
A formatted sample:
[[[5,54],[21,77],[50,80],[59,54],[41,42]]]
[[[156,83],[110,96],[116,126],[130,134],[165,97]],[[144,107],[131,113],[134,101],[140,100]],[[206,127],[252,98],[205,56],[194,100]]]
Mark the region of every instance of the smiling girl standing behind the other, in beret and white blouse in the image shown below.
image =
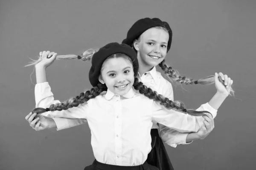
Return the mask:
[[[166,75],[169,75],[169,78],[172,76],[171,78],[179,83],[211,84],[214,82],[213,77],[200,79],[198,81],[193,81],[192,79],[186,77],[181,78],[176,70],[168,67],[165,64],[164,58],[166,57],[166,53],[170,49],[171,41],[172,30],[169,27],[169,24],[166,22],[162,22],[158,18],[144,18],[138,20],[128,31],[127,38],[123,40],[123,43],[127,43],[128,45],[132,46],[137,52],[137,58],[140,64],[140,78],[145,85],[150,86],[158,93],[173,100],[172,85],[168,81],[166,81],[159,72],[156,71],[155,66],[157,65],[161,66],[161,68],[165,71]],[[93,53],[93,51],[88,52]],[[79,56],[78,58],[84,61],[90,59],[92,55],[88,55],[88,52],[85,52],[82,56]],[[58,56],[57,59],[74,57],[76,58],[77,56]],[[215,75],[215,77],[216,76],[218,75]],[[230,90],[232,92],[230,86],[233,84],[233,81],[228,78],[227,75],[224,76],[222,73],[219,73],[219,76],[224,80],[226,89],[217,79],[217,81],[215,81],[215,86],[217,88],[215,96],[212,98],[211,101],[209,101],[209,103],[203,104],[198,110],[217,112],[218,107],[227,97]],[[83,120],[69,120],[65,118],[55,118],[55,122],[57,124],[58,130],[84,123]],[[211,124],[214,124],[214,122],[207,124],[209,128],[204,131],[204,135],[198,135],[198,133],[180,133],[176,130],[166,128],[160,124],[160,136],[164,142],[172,147],[176,147],[177,144],[187,144],[187,142],[189,141],[205,138],[214,127],[210,127]],[[31,124],[31,121],[30,125],[36,130],[44,129],[43,127],[40,127],[40,129],[39,127],[35,128],[34,122]],[[158,135],[157,129],[158,124],[154,123],[151,130],[152,150],[151,153],[148,155],[147,161],[149,164],[153,164],[159,167],[160,170],[172,170],[172,164],[164,148],[163,142]]]

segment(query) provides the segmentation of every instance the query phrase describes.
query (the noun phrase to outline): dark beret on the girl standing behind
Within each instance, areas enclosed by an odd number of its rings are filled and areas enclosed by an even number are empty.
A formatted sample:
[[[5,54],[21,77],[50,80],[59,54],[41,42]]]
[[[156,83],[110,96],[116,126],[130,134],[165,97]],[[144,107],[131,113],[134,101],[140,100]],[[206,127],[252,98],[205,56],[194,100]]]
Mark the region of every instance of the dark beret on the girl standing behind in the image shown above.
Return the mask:
[[[143,19],[137,20],[136,23],[134,23],[129,29],[127,33],[127,37],[122,41],[122,43],[128,44],[130,46],[135,39],[140,37],[140,35],[143,32],[156,26],[162,26],[168,30],[168,33],[169,33],[169,41],[167,44],[167,52],[168,52],[169,49],[171,48],[171,43],[172,43],[172,29],[168,23],[161,21],[159,18],[152,18],[152,19],[143,18]]]

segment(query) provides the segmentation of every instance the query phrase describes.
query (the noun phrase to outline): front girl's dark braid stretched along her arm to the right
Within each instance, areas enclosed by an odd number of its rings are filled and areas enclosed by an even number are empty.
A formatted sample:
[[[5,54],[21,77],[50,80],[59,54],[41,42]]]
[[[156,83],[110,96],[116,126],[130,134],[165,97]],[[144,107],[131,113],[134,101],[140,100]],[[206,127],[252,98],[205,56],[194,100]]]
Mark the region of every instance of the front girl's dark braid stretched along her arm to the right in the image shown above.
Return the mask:
[[[138,78],[135,78],[134,80],[134,89],[138,90],[140,94],[145,95],[146,97],[153,99],[160,105],[163,105],[167,109],[174,109],[178,112],[184,112],[189,115],[193,116],[202,116],[206,115],[204,113],[210,113],[208,111],[195,111],[193,109],[185,109],[185,105],[182,101],[171,101],[169,98],[165,98],[163,95],[159,95],[156,91],[153,91],[152,89],[148,88],[147,86],[143,85],[142,82],[139,81]]]

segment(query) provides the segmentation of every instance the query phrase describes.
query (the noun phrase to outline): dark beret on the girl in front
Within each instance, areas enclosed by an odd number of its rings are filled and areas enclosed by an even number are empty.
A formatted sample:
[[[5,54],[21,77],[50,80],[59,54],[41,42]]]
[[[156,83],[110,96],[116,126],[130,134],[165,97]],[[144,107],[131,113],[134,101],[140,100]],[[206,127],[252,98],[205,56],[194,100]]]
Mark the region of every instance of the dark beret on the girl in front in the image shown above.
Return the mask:
[[[122,53],[128,55],[131,58],[134,66],[134,75],[137,75],[139,69],[139,62],[137,59],[136,52],[127,44],[119,43],[108,43],[99,49],[98,52],[94,53],[92,58],[92,66],[89,71],[90,84],[94,87],[99,83],[100,70],[103,62],[111,55],[116,53]]]

